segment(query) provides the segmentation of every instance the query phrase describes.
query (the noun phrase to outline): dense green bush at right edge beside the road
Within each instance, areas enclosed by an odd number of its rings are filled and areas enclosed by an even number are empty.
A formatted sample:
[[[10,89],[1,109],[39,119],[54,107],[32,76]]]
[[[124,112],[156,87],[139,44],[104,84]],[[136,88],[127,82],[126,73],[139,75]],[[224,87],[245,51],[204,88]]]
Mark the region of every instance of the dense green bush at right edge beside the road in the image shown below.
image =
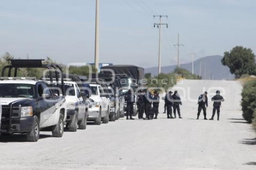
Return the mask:
[[[254,118],[254,111],[256,109],[256,80],[251,80],[245,83],[242,90],[242,111],[243,117],[249,123]]]

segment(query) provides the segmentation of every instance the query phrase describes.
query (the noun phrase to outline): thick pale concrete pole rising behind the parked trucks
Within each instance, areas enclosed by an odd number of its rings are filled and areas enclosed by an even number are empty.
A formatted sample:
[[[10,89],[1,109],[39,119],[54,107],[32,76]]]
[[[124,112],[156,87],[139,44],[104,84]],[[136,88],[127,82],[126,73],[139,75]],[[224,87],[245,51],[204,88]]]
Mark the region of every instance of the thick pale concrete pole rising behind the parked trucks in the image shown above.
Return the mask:
[[[95,14],[95,68],[99,69],[99,0],[96,0]]]

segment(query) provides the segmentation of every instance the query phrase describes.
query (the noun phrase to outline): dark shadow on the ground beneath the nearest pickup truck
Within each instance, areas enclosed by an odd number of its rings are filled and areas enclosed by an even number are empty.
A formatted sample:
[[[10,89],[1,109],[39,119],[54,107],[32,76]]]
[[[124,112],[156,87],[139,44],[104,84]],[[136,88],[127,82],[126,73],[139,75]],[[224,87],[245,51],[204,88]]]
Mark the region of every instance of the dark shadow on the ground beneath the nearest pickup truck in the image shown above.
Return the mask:
[[[52,135],[44,135],[40,134],[39,140],[44,138],[52,137]],[[25,134],[12,134],[12,135],[1,135],[0,136],[0,143],[9,143],[9,142],[28,142],[27,136]]]

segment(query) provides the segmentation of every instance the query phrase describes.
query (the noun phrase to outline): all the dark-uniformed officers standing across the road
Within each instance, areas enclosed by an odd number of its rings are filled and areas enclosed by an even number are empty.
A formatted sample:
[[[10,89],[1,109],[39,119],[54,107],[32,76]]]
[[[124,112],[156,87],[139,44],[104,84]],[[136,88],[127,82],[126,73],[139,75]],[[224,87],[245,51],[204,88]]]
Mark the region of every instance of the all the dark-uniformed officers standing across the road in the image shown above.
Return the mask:
[[[203,110],[204,120],[208,120],[206,118],[206,108],[208,107],[208,97],[207,92],[204,92],[198,97],[198,113],[197,119],[199,119],[200,113]],[[182,119],[180,115],[180,105],[182,105],[180,95],[178,94],[177,90],[166,92],[165,97],[162,98],[165,102],[164,104],[164,113],[167,110],[167,119],[175,119],[176,112],[180,119]],[[129,90],[128,93],[125,95],[126,100],[126,119],[134,120],[132,117],[133,115],[133,104],[135,102],[135,95],[133,95],[132,91]],[[220,106],[221,102],[224,102],[224,98],[220,96],[220,91],[216,91],[216,95],[211,98],[213,101],[213,112],[212,117],[209,120],[214,120],[214,115],[217,111],[217,120],[220,119]],[[152,107],[153,104],[153,107]],[[159,94],[157,91],[154,91],[153,95],[149,90],[139,90],[138,91],[138,100],[137,100],[137,107],[138,107],[138,118],[144,120],[151,120],[157,119],[158,117],[158,108],[159,108]],[[146,114],[146,117],[143,117],[143,114]],[[172,116],[174,114],[174,117]],[[154,117],[155,115],[155,117]],[[130,118],[129,118],[130,116]]]

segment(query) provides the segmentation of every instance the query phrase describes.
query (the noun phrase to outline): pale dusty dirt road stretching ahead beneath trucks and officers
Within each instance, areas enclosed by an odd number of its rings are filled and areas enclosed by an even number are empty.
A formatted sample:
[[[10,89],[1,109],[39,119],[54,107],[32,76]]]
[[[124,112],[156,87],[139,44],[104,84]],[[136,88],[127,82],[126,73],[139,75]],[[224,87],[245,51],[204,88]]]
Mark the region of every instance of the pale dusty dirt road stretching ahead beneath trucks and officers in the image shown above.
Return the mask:
[[[255,132],[242,120],[241,85],[185,80],[176,87],[186,90],[183,99],[194,100],[204,87],[222,87],[220,121],[202,120],[202,114],[195,120],[197,105],[191,100],[183,101],[183,119],[166,119],[161,101],[158,120],[121,118],[62,138],[42,132],[36,143],[25,142],[23,135],[0,137],[0,169],[256,169]],[[208,118],[211,111],[209,102]]]

